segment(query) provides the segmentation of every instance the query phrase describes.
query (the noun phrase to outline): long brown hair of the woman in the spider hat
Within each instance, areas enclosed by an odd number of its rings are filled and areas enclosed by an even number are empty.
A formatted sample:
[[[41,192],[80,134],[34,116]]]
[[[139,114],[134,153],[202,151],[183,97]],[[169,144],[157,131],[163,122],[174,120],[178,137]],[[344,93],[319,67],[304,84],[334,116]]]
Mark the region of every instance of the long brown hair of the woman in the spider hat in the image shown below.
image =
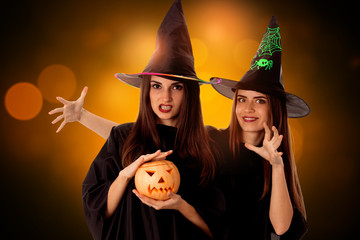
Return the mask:
[[[229,124],[229,148],[232,153],[233,159],[235,160],[236,157],[239,156],[238,149],[240,149],[241,145],[241,127],[238,123],[237,117],[236,117],[236,96],[237,96],[238,90],[235,91],[235,97],[234,102],[232,106],[232,114],[231,114],[231,120]],[[282,158],[284,162],[284,170],[285,170],[285,177],[286,177],[286,183],[287,187],[289,189],[290,198],[295,205],[297,209],[302,213],[302,215],[306,218],[306,210],[305,210],[305,204],[304,199],[300,187],[300,181],[297,175],[296,170],[296,164],[295,159],[291,147],[291,133],[288,123],[288,117],[287,117],[287,111],[286,111],[286,102],[283,100],[280,100],[280,98],[267,95],[269,101],[270,101],[270,123],[269,127],[275,126],[279,134],[283,135],[283,140],[281,142],[281,145],[278,149],[279,152],[283,152]],[[268,161],[264,160],[264,189],[263,194],[260,198],[263,199],[266,194],[270,191],[271,186],[271,165]]]

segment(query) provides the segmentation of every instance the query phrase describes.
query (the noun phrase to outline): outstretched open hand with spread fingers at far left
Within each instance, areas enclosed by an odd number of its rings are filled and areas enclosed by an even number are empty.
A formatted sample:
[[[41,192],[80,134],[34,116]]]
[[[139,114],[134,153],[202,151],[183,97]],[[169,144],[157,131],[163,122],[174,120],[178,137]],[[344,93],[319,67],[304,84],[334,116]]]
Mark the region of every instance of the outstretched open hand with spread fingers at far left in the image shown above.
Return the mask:
[[[55,108],[49,112],[50,115],[53,115],[55,113],[61,113],[61,115],[59,115],[51,122],[52,124],[59,122],[61,119],[64,119],[64,121],[62,121],[62,123],[60,124],[59,128],[56,130],[56,133],[60,132],[67,123],[80,121],[87,91],[88,87],[84,87],[80,97],[76,101],[67,101],[62,97],[56,97],[59,102],[64,104],[63,107]]]

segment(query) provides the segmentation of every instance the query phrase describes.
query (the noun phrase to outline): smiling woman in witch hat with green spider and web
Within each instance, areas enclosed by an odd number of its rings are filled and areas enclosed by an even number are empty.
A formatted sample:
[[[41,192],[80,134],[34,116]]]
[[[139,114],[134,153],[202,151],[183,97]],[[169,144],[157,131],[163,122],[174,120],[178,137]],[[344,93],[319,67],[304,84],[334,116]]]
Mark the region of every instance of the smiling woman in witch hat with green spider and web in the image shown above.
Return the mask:
[[[217,178],[227,203],[228,239],[300,239],[307,230],[288,117],[304,117],[310,108],[284,91],[280,40],[273,17],[241,80],[211,80],[233,99],[229,127],[210,132],[224,156]]]

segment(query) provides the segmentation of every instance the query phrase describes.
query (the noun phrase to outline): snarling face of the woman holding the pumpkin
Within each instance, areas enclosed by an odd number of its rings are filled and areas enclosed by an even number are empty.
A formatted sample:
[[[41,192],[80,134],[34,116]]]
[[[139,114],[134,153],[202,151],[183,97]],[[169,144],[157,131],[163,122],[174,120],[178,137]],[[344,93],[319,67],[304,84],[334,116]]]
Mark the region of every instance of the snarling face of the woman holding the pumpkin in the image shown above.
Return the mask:
[[[151,76],[149,95],[156,123],[175,127],[184,96],[183,83]]]

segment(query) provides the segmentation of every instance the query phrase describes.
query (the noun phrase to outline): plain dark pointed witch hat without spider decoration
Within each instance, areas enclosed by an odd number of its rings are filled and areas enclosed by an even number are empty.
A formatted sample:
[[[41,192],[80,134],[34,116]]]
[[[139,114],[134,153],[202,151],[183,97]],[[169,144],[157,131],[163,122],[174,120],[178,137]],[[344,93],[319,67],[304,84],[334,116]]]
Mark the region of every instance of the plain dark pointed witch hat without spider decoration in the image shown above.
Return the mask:
[[[196,76],[194,56],[181,0],[175,0],[156,36],[155,51],[141,73],[115,76],[134,87],[140,87],[144,75],[194,80],[209,83]]]

